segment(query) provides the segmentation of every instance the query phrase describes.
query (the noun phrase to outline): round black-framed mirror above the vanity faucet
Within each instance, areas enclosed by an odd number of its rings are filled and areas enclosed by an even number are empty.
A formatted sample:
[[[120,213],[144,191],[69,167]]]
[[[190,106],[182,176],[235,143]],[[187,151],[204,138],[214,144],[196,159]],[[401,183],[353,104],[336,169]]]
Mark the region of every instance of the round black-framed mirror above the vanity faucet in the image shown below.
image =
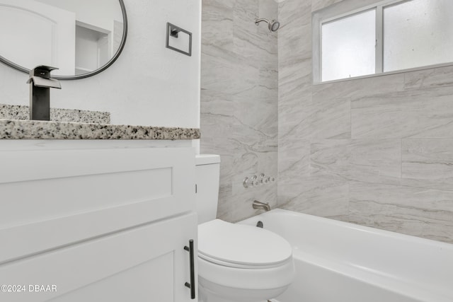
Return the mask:
[[[122,0],[0,0],[0,61],[28,73],[57,67],[52,78],[82,79],[105,70],[122,52]]]

